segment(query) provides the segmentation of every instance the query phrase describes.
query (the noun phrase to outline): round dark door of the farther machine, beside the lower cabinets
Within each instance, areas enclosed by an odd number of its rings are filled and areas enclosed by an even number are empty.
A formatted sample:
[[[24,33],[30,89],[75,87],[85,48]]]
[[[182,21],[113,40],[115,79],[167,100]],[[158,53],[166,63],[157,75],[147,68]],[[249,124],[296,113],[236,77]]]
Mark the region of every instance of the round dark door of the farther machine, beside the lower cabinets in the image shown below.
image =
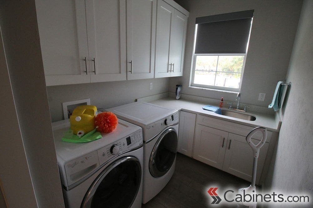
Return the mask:
[[[149,171],[153,177],[161,177],[172,167],[177,152],[177,133],[174,128],[165,130],[154,145]]]

